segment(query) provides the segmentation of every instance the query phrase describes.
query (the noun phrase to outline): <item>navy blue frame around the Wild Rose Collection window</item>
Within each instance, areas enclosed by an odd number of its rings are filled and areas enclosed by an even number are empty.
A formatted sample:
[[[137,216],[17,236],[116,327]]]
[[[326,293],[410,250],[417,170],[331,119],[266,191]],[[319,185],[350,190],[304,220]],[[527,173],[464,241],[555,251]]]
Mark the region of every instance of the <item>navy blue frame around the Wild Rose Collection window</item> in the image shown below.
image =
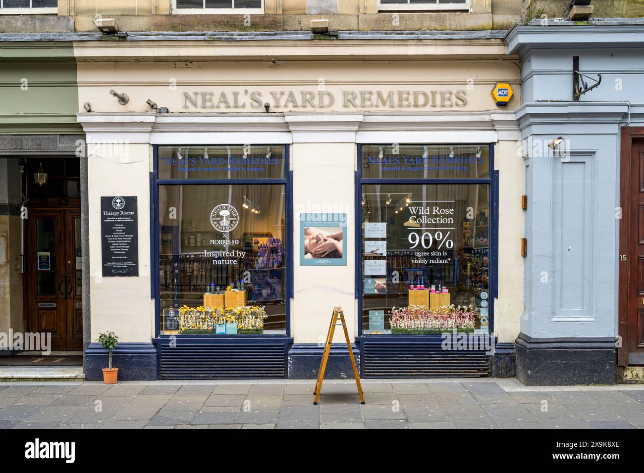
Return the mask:
[[[401,145],[431,145],[431,146],[454,146],[460,143],[404,143]],[[490,202],[490,261],[489,261],[489,308],[491,317],[489,318],[489,332],[494,333],[495,321],[495,297],[498,297],[498,171],[494,169],[494,145],[488,144],[489,147],[489,178],[464,178],[464,179],[363,179],[362,177],[362,144],[357,145],[357,166],[355,171],[355,299],[358,305],[358,337],[374,337],[377,340],[383,340],[384,337],[407,337],[406,334],[389,334],[389,335],[363,335],[363,275],[362,275],[362,186],[363,184],[488,184],[489,185],[489,202]],[[388,146],[384,143],[369,143],[365,146]],[[440,339],[439,334],[413,335],[413,337],[428,337]]]

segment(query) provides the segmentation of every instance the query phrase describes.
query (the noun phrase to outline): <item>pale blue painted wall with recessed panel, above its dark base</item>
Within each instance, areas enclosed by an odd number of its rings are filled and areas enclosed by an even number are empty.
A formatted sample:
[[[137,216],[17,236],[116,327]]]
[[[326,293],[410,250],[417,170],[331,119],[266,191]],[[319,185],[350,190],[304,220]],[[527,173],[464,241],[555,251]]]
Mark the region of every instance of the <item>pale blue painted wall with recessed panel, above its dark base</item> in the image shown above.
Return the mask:
[[[644,125],[644,22],[618,23],[536,22],[507,37],[509,53],[522,60],[516,116],[528,243],[521,331],[530,337],[618,334],[620,129]],[[582,73],[602,75],[579,101],[573,56]],[[565,142],[553,151],[547,143],[557,136]]]

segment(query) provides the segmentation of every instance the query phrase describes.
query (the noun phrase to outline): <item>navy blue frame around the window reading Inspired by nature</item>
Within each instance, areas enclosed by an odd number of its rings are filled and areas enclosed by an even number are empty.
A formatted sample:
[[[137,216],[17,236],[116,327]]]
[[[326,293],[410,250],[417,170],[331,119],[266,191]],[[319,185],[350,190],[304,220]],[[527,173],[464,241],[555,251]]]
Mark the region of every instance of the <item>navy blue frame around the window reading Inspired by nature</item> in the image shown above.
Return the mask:
[[[227,143],[226,145],[235,145]],[[220,184],[220,185],[249,185],[249,184],[281,184],[285,186],[285,192],[287,196],[287,206],[286,206],[286,229],[285,232],[290,239],[293,237],[293,172],[290,171],[290,145],[289,144],[252,144],[252,146],[283,146],[284,147],[284,159],[285,159],[285,169],[286,175],[284,178],[279,179],[159,179],[158,178],[158,147],[159,146],[187,146],[184,144],[173,144],[173,145],[153,145],[153,171],[150,173],[150,228],[151,228],[151,248],[150,248],[150,257],[151,257],[151,270],[152,274],[150,277],[151,283],[151,297],[155,301],[155,339],[159,337],[169,337],[169,335],[161,335],[161,314],[159,311],[160,307],[160,276],[159,276],[159,237],[160,237],[160,228],[159,228],[159,216],[158,216],[158,190],[160,185],[209,185],[209,184]],[[214,146],[212,144],[191,144],[189,146]],[[287,293],[286,293],[286,335],[284,334],[274,334],[274,335],[261,335],[261,339],[265,338],[279,338],[283,339],[285,337],[290,337],[290,301],[293,298],[293,264],[294,264],[294,254],[293,254],[293,243],[292,241],[287,240]],[[199,337],[203,338],[213,338],[213,339],[223,339],[225,335],[187,335],[189,337]],[[247,335],[239,334],[233,335],[235,339],[242,340],[244,338],[254,338],[257,339],[258,335]]]

